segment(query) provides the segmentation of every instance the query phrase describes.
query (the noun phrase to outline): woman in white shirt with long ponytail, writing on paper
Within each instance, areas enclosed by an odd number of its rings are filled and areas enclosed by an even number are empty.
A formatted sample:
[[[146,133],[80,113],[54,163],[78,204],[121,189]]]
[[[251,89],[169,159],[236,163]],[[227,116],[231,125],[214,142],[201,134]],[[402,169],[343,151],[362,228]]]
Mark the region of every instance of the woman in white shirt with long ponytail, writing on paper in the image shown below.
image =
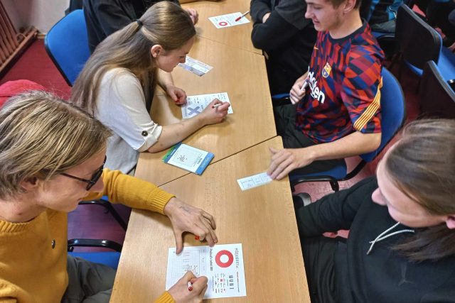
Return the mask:
[[[215,99],[197,116],[171,125],[159,126],[149,116],[156,84],[176,104],[186,102],[186,93],[174,86],[170,72],[185,62],[195,36],[188,13],[161,1],[97,46],[77,77],[71,100],[114,132],[107,145],[107,167],[130,172],[139,152],[169,148],[228,114],[229,103]],[[212,108],[215,104],[221,105]]]

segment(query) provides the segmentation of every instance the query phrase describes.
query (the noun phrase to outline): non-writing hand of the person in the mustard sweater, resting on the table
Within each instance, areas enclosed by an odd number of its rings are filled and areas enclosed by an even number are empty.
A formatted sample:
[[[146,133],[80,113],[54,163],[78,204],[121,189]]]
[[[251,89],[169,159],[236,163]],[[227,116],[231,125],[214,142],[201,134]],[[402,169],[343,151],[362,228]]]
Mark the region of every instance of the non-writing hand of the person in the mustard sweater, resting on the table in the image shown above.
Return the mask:
[[[196,235],[200,241],[204,239],[209,246],[218,243],[215,235],[215,220],[211,214],[191,205],[171,198],[164,206],[164,214],[171,220],[173,234],[176,237],[176,253],[183,250],[182,233],[188,231]]]

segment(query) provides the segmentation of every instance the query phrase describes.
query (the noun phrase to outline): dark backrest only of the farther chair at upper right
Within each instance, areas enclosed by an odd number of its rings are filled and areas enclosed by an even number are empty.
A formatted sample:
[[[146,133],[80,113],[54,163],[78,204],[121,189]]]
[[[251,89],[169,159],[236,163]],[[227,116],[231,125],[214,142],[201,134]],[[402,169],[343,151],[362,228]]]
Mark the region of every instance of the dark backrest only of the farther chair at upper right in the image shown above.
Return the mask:
[[[398,9],[395,36],[403,59],[414,67],[422,70],[427,61],[438,62],[441,35],[406,5]]]

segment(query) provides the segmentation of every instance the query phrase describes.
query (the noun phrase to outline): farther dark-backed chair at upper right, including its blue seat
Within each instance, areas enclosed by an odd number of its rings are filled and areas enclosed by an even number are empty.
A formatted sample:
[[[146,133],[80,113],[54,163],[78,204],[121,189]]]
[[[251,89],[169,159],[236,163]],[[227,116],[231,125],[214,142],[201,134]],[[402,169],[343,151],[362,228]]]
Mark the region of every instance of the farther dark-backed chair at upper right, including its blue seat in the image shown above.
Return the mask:
[[[442,46],[434,28],[405,5],[398,9],[395,36],[405,65],[414,74],[422,77],[424,65],[434,61],[446,81],[455,79],[455,54]]]

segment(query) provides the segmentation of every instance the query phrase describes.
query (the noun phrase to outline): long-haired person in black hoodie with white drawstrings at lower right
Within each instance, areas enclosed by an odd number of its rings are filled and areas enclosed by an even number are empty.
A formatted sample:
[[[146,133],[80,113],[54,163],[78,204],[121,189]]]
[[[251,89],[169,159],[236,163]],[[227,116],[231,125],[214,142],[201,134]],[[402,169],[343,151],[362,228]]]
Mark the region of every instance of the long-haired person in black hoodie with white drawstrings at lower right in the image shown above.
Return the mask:
[[[455,302],[454,171],[455,121],[414,121],[376,177],[296,209],[311,302]]]

